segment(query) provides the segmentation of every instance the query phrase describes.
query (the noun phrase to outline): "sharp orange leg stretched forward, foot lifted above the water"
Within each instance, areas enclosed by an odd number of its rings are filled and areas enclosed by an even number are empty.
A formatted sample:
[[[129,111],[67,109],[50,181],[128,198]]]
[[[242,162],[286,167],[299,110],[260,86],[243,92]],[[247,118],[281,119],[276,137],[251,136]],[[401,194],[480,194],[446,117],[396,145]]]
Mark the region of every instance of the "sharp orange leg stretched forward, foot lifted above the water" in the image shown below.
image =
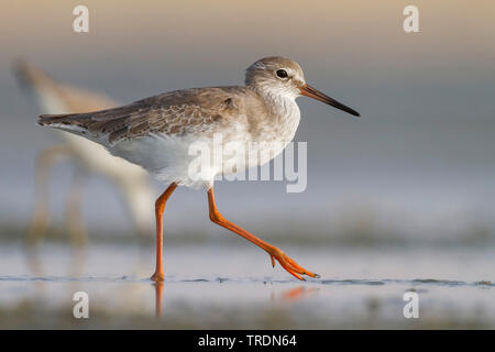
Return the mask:
[[[301,266],[297,264],[294,260],[292,260],[289,256],[287,256],[283,251],[277,249],[276,246],[260,240],[254,234],[251,234],[250,232],[245,231],[244,229],[241,229],[235,223],[230,222],[223,216],[217,210],[217,205],[215,204],[215,194],[213,188],[208,189],[208,205],[209,205],[209,211],[210,211],[210,219],[215,223],[243,237],[248,241],[253,242],[258,248],[266,251],[266,253],[270,254],[270,257],[272,258],[272,265],[275,266],[275,260],[280,263],[280,265],[292,275],[296,276],[298,279],[302,279],[302,276],[300,275],[308,275],[311,277],[319,277],[317,274],[314,274]]]

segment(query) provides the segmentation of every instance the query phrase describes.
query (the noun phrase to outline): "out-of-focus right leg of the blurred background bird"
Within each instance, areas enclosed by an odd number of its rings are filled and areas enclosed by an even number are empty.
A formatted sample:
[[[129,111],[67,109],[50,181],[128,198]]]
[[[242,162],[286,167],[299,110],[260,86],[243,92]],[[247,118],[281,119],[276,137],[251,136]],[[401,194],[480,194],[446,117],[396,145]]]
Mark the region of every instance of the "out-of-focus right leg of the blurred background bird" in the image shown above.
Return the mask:
[[[70,242],[74,246],[84,246],[88,239],[82,219],[82,188],[88,179],[87,172],[79,165],[74,170],[67,197],[66,223]]]

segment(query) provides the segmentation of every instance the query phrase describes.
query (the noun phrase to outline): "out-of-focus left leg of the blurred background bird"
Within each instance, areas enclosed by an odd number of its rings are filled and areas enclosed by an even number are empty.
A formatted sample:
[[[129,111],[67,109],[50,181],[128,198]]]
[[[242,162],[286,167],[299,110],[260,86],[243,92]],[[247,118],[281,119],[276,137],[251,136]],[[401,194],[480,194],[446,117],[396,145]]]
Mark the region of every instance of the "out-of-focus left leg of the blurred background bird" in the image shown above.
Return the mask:
[[[56,161],[67,157],[72,151],[66,145],[55,145],[41,151],[36,156],[35,166],[35,194],[34,194],[34,211],[28,231],[28,244],[34,245],[41,240],[46,231],[48,222],[48,185],[50,169]]]

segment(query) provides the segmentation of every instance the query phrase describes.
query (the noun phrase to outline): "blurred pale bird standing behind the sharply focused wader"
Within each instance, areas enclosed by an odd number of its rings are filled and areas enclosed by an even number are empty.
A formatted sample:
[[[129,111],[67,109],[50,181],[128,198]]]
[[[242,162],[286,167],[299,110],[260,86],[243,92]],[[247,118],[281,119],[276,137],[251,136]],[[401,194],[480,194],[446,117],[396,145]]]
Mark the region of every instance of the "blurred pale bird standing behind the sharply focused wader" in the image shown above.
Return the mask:
[[[105,95],[61,84],[24,59],[13,65],[15,77],[24,90],[34,97],[41,113],[96,111],[118,106]],[[38,243],[46,231],[51,168],[61,161],[70,161],[75,170],[66,202],[66,227],[70,241],[81,245],[87,231],[81,216],[82,188],[90,174],[108,179],[123,196],[135,232],[151,233],[153,189],[144,169],[110,155],[102,146],[77,135],[52,131],[58,143],[38,152],[35,169],[34,211],[28,243]]]

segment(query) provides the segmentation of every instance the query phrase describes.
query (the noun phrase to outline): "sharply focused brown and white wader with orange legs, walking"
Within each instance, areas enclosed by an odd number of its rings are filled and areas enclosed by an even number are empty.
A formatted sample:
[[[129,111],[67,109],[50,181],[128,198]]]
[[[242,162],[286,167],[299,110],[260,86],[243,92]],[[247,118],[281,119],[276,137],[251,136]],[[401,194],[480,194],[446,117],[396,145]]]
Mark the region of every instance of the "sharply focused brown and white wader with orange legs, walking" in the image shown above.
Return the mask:
[[[300,120],[296,98],[300,96],[360,116],[309,86],[296,62],[274,56],[262,58],[246,69],[245,86],[176,90],[97,112],[41,116],[38,124],[86,136],[102,144],[113,155],[141,165],[157,179],[169,183],[155,202],[156,270],[153,280],[164,280],[163,212],[177,186],[206,188],[212,222],[266,251],[273,266],[276,260],[288,273],[304,279],[301,275],[318,275],[301,267],[278,248],[230,222],[218,211],[215,177],[240,169],[226,168],[224,160],[220,158],[201,170],[201,178],[193,178],[189,172],[194,158],[189,152],[190,145],[202,142],[215,148],[217,134],[222,136],[224,143],[250,143],[250,146],[258,147],[254,151],[249,148],[249,153],[261,153],[268,147],[275,151],[265,160],[255,160],[255,164],[248,155],[238,153],[237,157],[245,161],[241,163],[243,167],[270,162],[296,133]]]

